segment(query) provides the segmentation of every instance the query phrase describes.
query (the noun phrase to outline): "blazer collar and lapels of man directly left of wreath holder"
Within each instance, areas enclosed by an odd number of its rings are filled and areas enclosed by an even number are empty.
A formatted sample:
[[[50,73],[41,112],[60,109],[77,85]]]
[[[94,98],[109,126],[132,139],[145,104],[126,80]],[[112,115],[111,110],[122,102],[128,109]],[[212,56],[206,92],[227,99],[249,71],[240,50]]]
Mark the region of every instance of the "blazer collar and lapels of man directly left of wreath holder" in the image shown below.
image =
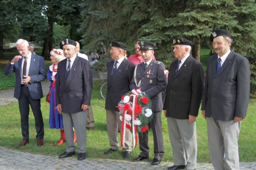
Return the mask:
[[[114,73],[113,76],[111,76],[112,74],[112,69],[113,69],[113,65],[114,65],[114,61],[112,60],[109,62],[109,67],[108,67],[108,88],[111,87],[111,85],[120,77],[120,75],[123,73],[123,71],[125,70],[126,67],[126,62],[127,60],[124,59],[121,64],[119,65],[119,67],[117,68],[117,71]]]

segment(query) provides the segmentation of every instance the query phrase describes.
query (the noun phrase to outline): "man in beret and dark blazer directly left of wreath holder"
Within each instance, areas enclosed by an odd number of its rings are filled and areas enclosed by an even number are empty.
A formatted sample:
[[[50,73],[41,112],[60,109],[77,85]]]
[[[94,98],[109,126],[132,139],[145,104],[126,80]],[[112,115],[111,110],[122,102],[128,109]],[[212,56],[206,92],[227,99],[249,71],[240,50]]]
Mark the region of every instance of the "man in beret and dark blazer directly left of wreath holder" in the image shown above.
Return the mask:
[[[111,146],[104,154],[111,154],[119,149],[117,133],[118,125],[122,127],[118,102],[121,97],[130,91],[130,82],[132,81],[135,65],[124,58],[126,45],[122,42],[113,41],[110,44],[110,55],[112,61],[107,63],[107,95],[105,102],[107,117],[107,132],[109,145]],[[123,158],[128,158],[132,151],[132,134],[128,128],[125,132],[125,143],[123,146]]]

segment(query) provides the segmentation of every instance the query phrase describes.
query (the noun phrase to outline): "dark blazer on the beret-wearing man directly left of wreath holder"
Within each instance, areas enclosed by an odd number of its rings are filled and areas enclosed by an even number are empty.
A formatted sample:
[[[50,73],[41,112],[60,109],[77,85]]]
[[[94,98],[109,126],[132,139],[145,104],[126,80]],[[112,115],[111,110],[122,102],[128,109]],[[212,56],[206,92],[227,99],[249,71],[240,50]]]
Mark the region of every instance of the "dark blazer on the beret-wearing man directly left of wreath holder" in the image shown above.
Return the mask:
[[[135,65],[132,62],[124,59],[114,75],[111,76],[114,61],[115,60],[112,60],[107,63],[108,74],[105,109],[119,111],[117,106],[121,100],[121,97],[130,91],[130,82],[133,78]]]

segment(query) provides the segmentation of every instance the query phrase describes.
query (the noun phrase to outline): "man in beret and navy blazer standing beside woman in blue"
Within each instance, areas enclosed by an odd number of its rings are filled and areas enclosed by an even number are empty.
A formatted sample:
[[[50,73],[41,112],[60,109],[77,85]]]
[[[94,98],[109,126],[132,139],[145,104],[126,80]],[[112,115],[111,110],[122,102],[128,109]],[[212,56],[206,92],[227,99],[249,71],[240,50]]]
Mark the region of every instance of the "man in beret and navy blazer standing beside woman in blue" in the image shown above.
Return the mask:
[[[75,127],[78,144],[78,160],[86,158],[86,122],[87,109],[90,106],[92,94],[92,73],[86,59],[76,55],[76,42],[64,39],[60,42],[64,59],[58,64],[56,77],[56,105],[63,116],[63,126],[66,137],[66,151],[59,158],[75,154]]]

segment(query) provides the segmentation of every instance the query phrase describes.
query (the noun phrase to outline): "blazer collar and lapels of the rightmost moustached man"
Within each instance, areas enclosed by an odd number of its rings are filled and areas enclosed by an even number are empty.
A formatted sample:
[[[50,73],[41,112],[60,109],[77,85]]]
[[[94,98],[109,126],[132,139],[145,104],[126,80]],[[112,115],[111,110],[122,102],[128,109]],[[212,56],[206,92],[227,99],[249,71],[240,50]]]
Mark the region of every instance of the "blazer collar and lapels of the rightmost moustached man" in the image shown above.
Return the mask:
[[[232,62],[235,52],[231,48],[230,48],[230,50],[231,50],[231,52],[229,53],[229,55],[227,56],[227,59],[222,64],[217,75],[216,75],[216,64],[217,64],[217,60],[218,60],[218,54],[216,54],[216,56],[213,57],[212,68],[213,68],[213,73],[216,77],[218,75],[220,75]],[[214,62],[214,61],[216,61],[216,62]]]

